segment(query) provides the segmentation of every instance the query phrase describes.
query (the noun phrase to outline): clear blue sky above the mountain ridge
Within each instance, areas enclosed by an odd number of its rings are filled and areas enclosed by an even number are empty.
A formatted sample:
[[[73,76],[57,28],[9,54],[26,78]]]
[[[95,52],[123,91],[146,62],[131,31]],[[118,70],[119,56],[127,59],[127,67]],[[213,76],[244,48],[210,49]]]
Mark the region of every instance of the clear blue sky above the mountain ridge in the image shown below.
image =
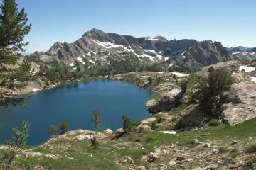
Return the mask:
[[[135,37],[216,40],[256,47],[255,0],[17,0],[26,8],[28,52],[73,42],[87,30]]]

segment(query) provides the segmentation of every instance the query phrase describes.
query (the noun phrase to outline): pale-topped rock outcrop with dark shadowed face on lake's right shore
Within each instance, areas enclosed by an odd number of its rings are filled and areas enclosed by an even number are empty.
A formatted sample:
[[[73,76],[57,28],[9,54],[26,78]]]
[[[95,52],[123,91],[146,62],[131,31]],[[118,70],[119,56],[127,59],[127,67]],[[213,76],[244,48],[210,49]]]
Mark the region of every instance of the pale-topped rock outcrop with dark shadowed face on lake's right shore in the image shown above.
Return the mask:
[[[152,99],[146,103],[146,108],[150,113],[159,113],[160,111],[169,111],[176,106],[178,100],[182,98],[180,89],[172,89],[161,94],[159,101]]]

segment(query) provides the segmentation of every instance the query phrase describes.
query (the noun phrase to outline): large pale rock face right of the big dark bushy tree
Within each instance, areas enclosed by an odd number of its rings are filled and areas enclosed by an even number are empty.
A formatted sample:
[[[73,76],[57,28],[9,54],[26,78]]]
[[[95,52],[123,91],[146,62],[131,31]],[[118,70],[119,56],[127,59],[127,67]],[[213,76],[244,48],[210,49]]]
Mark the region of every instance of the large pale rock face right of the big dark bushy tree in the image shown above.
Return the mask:
[[[233,84],[223,105],[222,118],[225,123],[237,125],[256,117],[256,84],[245,81]]]

